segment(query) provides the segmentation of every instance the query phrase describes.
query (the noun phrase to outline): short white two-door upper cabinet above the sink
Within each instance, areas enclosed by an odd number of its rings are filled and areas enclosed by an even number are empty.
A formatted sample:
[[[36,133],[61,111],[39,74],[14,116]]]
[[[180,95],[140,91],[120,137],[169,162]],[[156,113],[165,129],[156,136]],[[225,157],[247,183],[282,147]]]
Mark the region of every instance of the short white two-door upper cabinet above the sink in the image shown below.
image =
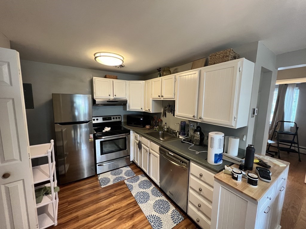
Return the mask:
[[[175,94],[175,75],[167,75],[151,80],[152,99],[173,100]]]

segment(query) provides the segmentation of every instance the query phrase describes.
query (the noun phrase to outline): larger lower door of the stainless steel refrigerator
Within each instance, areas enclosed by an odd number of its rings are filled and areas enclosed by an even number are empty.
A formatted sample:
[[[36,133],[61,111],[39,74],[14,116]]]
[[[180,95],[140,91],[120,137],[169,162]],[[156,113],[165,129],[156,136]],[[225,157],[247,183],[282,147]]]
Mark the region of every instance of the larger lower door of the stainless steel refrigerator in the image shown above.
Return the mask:
[[[92,121],[84,124],[54,124],[59,184],[95,175]]]

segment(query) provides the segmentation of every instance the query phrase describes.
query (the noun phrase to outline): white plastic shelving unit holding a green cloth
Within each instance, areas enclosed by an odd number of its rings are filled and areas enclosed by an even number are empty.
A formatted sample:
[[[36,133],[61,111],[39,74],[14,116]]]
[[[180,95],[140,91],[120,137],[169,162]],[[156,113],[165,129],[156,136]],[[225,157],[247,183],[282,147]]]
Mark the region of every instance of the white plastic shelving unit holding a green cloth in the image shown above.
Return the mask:
[[[58,214],[58,193],[54,192],[57,186],[54,158],[54,141],[50,143],[30,146],[32,158],[48,157],[48,164],[38,165],[32,168],[33,182],[39,184],[49,180],[50,183],[35,187],[35,189],[48,186],[51,187],[51,194],[44,195],[41,203],[36,204],[39,229],[57,225]],[[51,160],[52,157],[52,160]]]

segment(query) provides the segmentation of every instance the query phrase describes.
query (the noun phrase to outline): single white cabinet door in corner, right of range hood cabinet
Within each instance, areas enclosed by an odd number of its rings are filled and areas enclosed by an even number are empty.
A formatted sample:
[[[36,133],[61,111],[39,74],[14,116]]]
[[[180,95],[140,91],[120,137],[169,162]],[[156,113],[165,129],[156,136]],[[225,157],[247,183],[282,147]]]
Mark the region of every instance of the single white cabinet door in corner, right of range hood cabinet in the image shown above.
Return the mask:
[[[144,81],[129,81],[129,110],[143,111]]]

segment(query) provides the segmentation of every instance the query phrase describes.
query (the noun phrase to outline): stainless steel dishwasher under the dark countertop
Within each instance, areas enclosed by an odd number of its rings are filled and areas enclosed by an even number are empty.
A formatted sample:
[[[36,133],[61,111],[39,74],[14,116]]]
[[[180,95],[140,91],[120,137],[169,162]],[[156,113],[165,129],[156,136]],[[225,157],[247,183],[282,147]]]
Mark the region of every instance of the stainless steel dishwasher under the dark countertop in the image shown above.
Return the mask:
[[[159,147],[159,185],[161,189],[187,212],[190,161]]]

